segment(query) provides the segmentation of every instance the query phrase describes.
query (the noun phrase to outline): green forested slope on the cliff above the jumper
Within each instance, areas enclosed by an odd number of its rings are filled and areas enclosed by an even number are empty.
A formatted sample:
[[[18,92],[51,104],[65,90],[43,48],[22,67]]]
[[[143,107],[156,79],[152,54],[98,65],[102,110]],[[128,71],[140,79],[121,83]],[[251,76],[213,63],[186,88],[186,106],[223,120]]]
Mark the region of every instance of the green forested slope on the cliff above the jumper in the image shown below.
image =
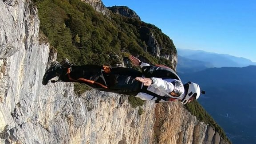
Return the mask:
[[[40,30],[58,50],[59,60],[69,58],[78,65],[114,65],[117,60],[111,54],[121,56],[125,51],[166,64],[145,51],[150,33],[163,47],[161,53],[176,53],[172,40],[152,24],[112,12],[109,19],[80,0],[39,0],[36,5]]]

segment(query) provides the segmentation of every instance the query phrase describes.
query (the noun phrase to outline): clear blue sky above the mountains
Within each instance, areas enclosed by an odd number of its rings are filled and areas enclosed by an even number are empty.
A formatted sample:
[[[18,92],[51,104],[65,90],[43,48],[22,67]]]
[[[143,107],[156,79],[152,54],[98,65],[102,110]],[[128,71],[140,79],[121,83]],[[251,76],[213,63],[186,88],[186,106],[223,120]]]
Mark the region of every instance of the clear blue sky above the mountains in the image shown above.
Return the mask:
[[[254,0],[102,0],[128,6],[154,24],[176,48],[244,57],[256,62]]]

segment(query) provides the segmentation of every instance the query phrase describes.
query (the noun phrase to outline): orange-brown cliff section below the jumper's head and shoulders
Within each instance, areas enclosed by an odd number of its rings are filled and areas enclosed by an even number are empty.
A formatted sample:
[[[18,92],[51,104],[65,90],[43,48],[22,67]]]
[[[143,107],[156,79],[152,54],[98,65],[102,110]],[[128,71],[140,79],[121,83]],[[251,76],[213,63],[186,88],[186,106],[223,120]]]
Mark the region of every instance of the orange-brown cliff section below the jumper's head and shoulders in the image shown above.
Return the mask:
[[[197,121],[180,103],[157,105],[155,117],[157,144],[226,144],[212,127]]]

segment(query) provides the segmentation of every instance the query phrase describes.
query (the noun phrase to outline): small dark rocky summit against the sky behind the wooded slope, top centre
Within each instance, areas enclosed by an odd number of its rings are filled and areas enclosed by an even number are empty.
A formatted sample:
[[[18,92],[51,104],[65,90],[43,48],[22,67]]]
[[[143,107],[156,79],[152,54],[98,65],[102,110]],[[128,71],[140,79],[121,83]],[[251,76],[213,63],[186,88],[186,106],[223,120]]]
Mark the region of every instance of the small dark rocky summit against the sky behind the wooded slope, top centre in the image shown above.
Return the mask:
[[[126,16],[129,18],[133,18],[133,19],[138,19],[139,21],[141,21],[141,18],[136,14],[136,12],[134,12],[133,10],[131,10],[128,7],[125,6],[113,6],[113,7],[108,7],[108,9],[110,9],[113,13],[122,15],[122,16]]]

